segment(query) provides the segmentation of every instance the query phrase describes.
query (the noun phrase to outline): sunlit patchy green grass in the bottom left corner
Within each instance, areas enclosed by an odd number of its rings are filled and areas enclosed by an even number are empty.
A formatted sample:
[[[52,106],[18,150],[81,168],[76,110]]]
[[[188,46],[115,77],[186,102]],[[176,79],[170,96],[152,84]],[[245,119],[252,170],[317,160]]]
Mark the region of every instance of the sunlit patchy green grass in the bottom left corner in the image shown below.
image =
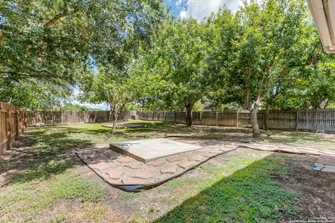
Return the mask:
[[[48,179],[18,180],[1,191],[0,221],[15,218],[30,221],[61,199],[100,201],[104,194],[98,186],[74,176],[70,169]]]

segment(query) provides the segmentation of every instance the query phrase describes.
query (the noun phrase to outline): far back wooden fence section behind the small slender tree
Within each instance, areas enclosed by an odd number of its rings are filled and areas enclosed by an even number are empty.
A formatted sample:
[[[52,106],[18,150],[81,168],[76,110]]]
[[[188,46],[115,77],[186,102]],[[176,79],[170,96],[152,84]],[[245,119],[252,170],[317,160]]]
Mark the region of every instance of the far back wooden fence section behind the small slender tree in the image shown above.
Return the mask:
[[[102,123],[112,121],[109,111],[89,111],[89,112],[61,112],[61,111],[29,111],[28,126],[34,126],[35,123],[44,123],[44,125],[68,125],[79,123]],[[119,120],[131,119],[135,111],[121,112]]]

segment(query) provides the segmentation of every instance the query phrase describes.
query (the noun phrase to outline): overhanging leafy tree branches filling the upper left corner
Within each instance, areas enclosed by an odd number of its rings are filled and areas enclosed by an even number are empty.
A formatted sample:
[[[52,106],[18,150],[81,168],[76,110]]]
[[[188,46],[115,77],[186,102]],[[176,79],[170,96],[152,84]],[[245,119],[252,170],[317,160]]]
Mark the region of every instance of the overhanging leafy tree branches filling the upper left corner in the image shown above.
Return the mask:
[[[97,62],[121,67],[164,15],[161,0],[0,1],[0,91],[75,84]]]

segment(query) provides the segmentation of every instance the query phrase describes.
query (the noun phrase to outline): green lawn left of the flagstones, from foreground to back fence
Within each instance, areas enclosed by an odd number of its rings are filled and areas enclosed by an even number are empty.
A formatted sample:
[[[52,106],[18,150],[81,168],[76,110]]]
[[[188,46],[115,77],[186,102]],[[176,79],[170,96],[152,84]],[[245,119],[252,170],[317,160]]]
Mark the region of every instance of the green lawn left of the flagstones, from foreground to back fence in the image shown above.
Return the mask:
[[[96,143],[141,139],[154,135],[163,137],[165,130],[173,126],[161,122],[140,123],[148,127],[120,129],[114,137],[110,135],[110,128],[101,126],[103,124],[105,123],[29,128],[27,137],[31,138],[32,144],[27,153],[34,158],[22,160],[26,165],[17,168],[24,171],[24,174],[16,176],[1,188],[0,222],[11,222],[15,219],[31,221],[38,213],[47,210],[59,200],[101,200],[105,195],[104,190],[75,176],[73,170],[79,163],[71,155],[71,151]],[[11,167],[12,164],[15,167],[15,163],[8,163],[6,167]],[[0,167],[5,170],[3,164]],[[126,199],[131,199],[131,196],[125,193],[124,200]]]

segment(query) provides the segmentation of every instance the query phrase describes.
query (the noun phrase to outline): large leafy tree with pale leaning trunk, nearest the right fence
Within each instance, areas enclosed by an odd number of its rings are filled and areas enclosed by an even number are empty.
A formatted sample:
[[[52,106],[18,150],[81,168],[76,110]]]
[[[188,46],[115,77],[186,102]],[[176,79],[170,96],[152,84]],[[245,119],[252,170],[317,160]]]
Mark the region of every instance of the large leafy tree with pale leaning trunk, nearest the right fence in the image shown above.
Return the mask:
[[[211,67],[216,79],[224,80],[225,100],[250,111],[253,137],[260,137],[260,105],[278,82],[301,75],[304,43],[315,30],[305,5],[302,0],[244,1],[236,15],[223,10],[228,17],[214,18],[222,42]]]

